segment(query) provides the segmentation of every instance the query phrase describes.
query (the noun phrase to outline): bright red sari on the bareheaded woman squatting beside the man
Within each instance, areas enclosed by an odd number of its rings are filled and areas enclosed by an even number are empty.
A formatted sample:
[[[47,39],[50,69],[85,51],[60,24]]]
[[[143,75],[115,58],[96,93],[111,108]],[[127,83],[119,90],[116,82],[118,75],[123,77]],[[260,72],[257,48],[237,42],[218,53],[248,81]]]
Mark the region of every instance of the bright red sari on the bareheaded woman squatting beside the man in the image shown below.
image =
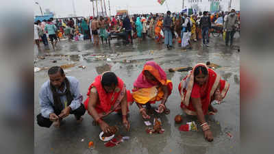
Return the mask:
[[[103,116],[107,116],[112,112],[118,112],[121,110],[121,100],[125,96],[125,92],[127,92],[127,112],[129,103],[132,102],[132,94],[129,90],[126,90],[125,84],[123,80],[117,77],[118,79],[118,86],[116,86],[114,92],[107,93],[105,92],[103,86],[101,85],[101,77],[102,75],[98,75],[95,78],[95,81],[92,82],[90,87],[88,88],[88,93],[86,94],[88,98],[84,101],[84,106],[86,110],[88,110],[88,101],[90,99],[90,90],[91,88],[95,87],[99,96],[97,105],[95,106],[95,110],[99,114],[100,118]],[[90,112],[88,112],[90,114]]]

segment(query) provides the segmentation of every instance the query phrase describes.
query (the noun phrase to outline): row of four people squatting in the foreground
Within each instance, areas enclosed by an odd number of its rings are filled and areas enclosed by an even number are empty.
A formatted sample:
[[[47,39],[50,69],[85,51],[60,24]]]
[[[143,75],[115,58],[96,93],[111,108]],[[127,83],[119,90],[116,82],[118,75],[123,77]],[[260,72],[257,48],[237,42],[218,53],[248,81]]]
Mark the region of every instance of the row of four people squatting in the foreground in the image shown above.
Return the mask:
[[[127,90],[123,80],[115,73],[108,71],[98,75],[90,84],[84,103],[79,90],[80,83],[75,77],[66,76],[60,66],[49,68],[48,75],[49,80],[39,92],[40,114],[37,123],[40,127],[60,127],[62,119],[69,114],[74,114],[77,122],[81,123],[87,110],[94,125],[99,125],[104,133],[112,131],[103,120],[105,116],[111,116],[112,112],[121,114],[123,125],[129,131],[129,105],[134,102],[145,120],[151,118],[149,113],[153,111],[159,114],[171,112],[167,102],[173,93],[173,83],[167,79],[161,66],[153,61],[146,62],[133,83],[132,92]],[[204,137],[209,142],[213,136],[205,115],[218,112],[212,102],[221,103],[228,89],[229,83],[206,64],[194,66],[179,83],[180,107],[186,114],[197,116]],[[157,110],[153,110],[151,104],[158,101]]]

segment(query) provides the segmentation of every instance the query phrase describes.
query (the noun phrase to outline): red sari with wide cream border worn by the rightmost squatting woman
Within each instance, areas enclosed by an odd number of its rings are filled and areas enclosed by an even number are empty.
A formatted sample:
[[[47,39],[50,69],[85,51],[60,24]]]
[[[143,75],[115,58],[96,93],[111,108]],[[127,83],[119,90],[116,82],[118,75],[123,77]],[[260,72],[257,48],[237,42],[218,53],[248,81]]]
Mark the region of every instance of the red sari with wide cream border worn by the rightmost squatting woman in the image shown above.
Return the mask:
[[[208,69],[208,81],[203,86],[199,86],[195,83],[194,70],[197,66],[205,66]],[[229,89],[227,81],[222,80],[221,77],[214,72],[211,68],[208,68],[206,64],[197,64],[192,71],[182,79],[179,84],[179,93],[181,94],[181,107],[186,114],[197,115],[195,108],[192,105],[191,98],[200,98],[202,104],[203,114],[208,114],[208,106],[214,101],[214,92],[219,86],[222,99],[225,98]]]

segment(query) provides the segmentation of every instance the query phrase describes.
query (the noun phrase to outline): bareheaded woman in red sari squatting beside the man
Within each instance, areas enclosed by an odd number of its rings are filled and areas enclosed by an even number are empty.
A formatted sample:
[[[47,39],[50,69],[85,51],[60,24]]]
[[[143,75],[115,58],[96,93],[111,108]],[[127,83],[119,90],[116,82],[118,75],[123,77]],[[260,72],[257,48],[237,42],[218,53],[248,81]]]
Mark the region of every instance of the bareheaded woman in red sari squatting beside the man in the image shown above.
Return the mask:
[[[88,88],[87,95],[88,98],[84,102],[84,106],[95,122],[99,123],[102,131],[108,133],[110,129],[109,125],[101,118],[114,111],[122,113],[123,125],[127,131],[129,130],[127,114],[132,96],[119,77],[116,77],[112,72],[98,75]]]

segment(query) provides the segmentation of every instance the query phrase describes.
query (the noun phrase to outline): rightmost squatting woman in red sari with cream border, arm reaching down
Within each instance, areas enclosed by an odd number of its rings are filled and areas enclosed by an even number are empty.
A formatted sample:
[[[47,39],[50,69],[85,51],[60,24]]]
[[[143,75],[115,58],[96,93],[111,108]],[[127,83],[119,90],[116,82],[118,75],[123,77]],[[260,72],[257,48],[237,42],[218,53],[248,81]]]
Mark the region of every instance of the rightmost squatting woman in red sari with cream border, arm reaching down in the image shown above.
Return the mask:
[[[206,123],[205,115],[217,112],[211,103],[214,100],[221,103],[228,89],[227,81],[222,80],[206,64],[197,64],[179,84],[182,109],[188,115],[197,116],[203,129],[203,135],[209,142],[213,140],[213,136],[210,125]]]

